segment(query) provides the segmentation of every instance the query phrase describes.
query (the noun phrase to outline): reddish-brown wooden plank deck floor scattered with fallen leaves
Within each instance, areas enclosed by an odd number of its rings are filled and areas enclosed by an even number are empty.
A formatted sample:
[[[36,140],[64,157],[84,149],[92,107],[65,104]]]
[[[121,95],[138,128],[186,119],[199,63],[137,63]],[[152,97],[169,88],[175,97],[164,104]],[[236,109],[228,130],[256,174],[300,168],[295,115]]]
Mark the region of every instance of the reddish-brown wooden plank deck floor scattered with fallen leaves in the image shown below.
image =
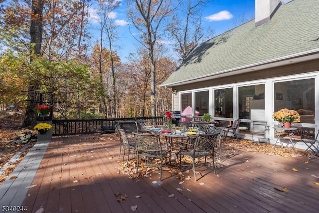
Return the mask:
[[[168,172],[131,180],[121,173],[119,141],[108,135],[52,139],[22,206],[34,213],[319,212],[319,159],[243,152],[222,161],[218,177],[182,184]],[[305,163],[306,162],[306,163]],[[293,171],[297,169],[298,171]],[[288,192],[280,191],[287,188]],[[178,190],[180,189],[180,190]],[[174,196],[172,196],[174,194]],[[123,202],[118,199],[123,196]],[[139,198],[137,197],[139,196]]]

